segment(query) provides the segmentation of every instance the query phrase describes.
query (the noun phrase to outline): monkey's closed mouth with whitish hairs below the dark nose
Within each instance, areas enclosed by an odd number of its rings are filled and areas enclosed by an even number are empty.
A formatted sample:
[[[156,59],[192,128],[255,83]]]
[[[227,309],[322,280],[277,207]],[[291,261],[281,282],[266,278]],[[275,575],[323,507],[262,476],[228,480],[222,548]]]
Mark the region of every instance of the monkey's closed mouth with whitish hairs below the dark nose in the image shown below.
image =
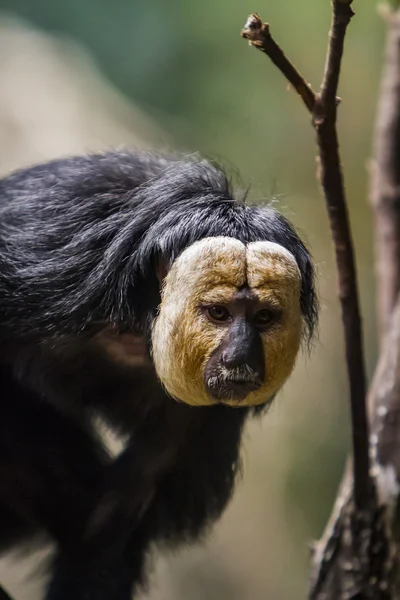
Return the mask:
[[[251,392],[258,390],[262,381],[256,374],[228,373],[212,375],[206,379],[205,384],[208,393],[215,400],[240,402]]]

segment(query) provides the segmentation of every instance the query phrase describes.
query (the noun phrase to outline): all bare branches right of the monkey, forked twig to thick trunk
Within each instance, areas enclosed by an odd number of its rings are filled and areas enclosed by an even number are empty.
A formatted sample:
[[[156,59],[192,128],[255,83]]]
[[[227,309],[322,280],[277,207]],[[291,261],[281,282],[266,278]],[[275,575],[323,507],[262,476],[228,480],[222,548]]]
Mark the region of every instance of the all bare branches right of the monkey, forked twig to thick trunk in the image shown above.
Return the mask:
[[[371,165],[382,351],[369,393],[371,452],[356,269],[336,131],[336,97],[352,0],[332,0],[321,91],[315,94],[270,36],[250,17],[244,37],[265,52],[312,113],[339,276],[353,432],[348,462],[324,536],[314,548],[311,600],[400,597],[400,8],[388,11],[386,66]],[[371,469],[369,468],[371,464]]]

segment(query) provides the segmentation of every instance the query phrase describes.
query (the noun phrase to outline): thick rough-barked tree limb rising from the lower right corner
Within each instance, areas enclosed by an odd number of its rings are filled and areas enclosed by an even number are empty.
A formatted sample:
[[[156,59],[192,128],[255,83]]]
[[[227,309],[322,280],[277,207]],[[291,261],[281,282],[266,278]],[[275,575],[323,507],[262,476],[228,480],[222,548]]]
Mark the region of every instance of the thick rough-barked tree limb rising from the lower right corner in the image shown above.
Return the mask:
[[[400,295],[369,392],[371,475],[376,496],[367,510],[352,506],[346,470],[334,510],[315,545],[310,600],[398,600]]]

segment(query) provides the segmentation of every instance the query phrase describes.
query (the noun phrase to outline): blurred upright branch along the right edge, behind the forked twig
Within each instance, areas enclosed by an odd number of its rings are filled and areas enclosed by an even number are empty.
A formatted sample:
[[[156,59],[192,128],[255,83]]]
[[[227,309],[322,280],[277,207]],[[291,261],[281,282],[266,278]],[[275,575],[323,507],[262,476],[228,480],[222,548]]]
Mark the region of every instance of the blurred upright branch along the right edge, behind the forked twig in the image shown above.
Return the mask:
[[[400,12],[386,11],[386,58],[371,161],[381,339],[400,291]]]

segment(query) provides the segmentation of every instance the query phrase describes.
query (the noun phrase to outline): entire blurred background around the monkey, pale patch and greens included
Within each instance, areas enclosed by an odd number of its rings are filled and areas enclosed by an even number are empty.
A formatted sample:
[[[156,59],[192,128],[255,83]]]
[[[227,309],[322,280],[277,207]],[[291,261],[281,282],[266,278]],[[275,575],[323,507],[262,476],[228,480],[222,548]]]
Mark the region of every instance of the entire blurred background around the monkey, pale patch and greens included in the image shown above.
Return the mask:
[[[383,55],[375,0],[354,2],[340,135],[358,255],[368,373],[376,357],[367,164]],[[155,552],[143,600],[306,596],[309,543],[329,515],[348,448],[340,311],[309,116],[239,36],[258,11],[318,87],[328,0],[0,0],[0,171],[113,146],[200,151],[239,172],[303,231],[318,267],[319,339],[262,420],[244,476],[212,535]],[[40,556],[0,562],[17,600],[40,597]]]

